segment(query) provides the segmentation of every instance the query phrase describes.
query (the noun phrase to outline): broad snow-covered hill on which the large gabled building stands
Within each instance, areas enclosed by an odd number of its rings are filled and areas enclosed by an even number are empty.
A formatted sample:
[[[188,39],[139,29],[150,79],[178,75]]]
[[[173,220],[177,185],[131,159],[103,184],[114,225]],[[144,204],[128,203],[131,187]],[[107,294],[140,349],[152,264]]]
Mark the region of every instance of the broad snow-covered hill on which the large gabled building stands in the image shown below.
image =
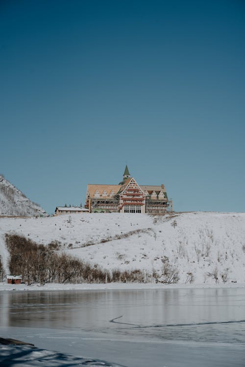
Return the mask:
[[[7,270],[5,233],[37,243],[56,241],[70,253],[105,269],[177,270],[179,283],[245,282],[245,213],[84,214],[1,218],[0,254]]]

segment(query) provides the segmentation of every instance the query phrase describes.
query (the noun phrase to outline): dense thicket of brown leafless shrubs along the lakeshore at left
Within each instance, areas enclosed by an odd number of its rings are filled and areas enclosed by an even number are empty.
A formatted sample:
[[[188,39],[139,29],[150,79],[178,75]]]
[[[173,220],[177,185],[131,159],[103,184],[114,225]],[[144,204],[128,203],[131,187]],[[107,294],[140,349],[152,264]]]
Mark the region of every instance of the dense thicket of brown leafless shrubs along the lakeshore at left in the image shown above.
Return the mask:
[[[146,282],[150,275],[141,270],[112,273],[95,264],[79,260],[66,253],[58,253],[50,246],[38,245],[25,237],[6,235],[6,246],[10,254],[11,274],[21,274],[23,280],[32,282],[58,283],[106,283],[106,282]],[[56,245],[51,245],[51,248]]]

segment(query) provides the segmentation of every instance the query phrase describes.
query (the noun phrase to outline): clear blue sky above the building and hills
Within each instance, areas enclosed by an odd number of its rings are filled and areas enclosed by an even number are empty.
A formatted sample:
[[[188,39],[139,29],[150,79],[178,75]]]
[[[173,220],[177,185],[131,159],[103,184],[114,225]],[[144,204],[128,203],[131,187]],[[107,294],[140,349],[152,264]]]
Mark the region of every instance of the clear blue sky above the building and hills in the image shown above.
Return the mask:
[[[245,1],[0,1],[0,172],[49,213],[164,183],[245,211]]]

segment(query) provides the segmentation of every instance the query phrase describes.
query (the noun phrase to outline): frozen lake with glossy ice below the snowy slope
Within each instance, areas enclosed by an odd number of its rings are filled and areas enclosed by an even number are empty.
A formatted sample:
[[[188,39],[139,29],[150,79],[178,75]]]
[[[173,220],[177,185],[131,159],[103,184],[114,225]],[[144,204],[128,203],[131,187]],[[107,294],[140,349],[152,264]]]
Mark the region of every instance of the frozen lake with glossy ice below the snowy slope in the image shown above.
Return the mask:
[[[245,366],[245,288],[6,291],[0,326],[129,367]]]

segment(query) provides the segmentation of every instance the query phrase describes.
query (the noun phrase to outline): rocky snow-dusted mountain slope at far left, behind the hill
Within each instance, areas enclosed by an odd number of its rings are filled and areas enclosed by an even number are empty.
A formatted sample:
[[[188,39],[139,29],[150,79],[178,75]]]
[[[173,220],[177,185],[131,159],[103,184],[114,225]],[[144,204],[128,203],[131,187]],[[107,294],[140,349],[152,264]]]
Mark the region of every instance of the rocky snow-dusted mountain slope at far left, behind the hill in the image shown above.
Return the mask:
[[[0,216],[33,217],[47,215],[39,205],[31,202],[13,184],[0,175]]]

